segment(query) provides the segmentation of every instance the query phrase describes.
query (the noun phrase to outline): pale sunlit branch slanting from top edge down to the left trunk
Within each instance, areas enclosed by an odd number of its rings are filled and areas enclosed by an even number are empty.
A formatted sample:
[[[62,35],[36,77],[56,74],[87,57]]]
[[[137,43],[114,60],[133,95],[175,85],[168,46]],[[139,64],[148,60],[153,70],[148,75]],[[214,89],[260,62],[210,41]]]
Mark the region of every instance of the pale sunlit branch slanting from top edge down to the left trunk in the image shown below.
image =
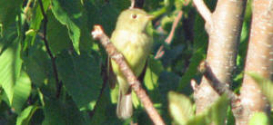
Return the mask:
[[[193,0],[193,3],[197,6],[197,11],[204,20],[209,24],[212,25],[212,17],[210,10],[207,8],[207,5],[204,3],[203,0]]]

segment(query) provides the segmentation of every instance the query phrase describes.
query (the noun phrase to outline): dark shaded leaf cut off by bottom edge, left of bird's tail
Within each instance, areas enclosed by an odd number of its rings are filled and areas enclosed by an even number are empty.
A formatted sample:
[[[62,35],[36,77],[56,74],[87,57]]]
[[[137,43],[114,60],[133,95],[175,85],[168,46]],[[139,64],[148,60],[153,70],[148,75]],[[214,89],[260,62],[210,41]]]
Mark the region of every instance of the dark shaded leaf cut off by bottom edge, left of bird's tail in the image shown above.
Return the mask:
[[[85,125],[83,114],[73,101],[45,100],[45,120],[43,125]]]

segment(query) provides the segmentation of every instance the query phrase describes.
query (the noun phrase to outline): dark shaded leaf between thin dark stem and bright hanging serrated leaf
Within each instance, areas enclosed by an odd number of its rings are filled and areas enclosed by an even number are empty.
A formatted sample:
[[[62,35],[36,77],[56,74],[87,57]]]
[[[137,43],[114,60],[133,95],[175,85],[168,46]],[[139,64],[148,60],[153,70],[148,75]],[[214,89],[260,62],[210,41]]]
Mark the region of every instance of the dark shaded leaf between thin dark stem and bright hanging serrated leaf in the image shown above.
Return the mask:
[[[70,39],[66,26],[60,24],[52,13],[47,14],[47,18],[47,41],[51,52],[56,55],[70,47]]]

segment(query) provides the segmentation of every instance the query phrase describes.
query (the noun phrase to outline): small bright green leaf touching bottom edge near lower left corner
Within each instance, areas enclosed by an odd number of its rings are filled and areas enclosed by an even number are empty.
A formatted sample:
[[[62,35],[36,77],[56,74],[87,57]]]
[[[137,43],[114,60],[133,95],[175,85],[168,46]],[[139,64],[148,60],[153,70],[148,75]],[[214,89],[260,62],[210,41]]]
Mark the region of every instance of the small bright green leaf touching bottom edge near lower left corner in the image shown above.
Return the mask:
[[[21,114],[17,117],[16,125],[28,125],[29,120],[31,119],[31,117],[33,116],[37,109],[38,107],[33,105],[25,108],[25,110],[22,111]]]

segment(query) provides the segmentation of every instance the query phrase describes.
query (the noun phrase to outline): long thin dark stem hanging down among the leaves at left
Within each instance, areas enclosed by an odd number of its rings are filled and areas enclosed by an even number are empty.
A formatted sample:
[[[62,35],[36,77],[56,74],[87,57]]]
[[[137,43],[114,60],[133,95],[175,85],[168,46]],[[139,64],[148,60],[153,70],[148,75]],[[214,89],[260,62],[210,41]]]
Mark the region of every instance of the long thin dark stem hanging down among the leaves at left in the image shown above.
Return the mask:
[[[52,67],[53,67],[53,72],[54,72],[54,76],[55,76],[55,80],[56,80],[56,97],[58,98],[62,89],[62,82],[59,81],[58,78],[58,73],[57,73],[57,69],[56,69],[56,57],[53,56],[52,52],[49,49],[49,45],[46,39],[46,24],[47,24],[47,16],[45,14],[45,9],[44,9],[44,5],[42,3],[42,0],[38,0],[42,14],[44,16],[44,35],[43,35],[43,40],[45,42],[45,49],[46,52],[48,53],[50,59],[51,59],[51,63],[52,63]]]

